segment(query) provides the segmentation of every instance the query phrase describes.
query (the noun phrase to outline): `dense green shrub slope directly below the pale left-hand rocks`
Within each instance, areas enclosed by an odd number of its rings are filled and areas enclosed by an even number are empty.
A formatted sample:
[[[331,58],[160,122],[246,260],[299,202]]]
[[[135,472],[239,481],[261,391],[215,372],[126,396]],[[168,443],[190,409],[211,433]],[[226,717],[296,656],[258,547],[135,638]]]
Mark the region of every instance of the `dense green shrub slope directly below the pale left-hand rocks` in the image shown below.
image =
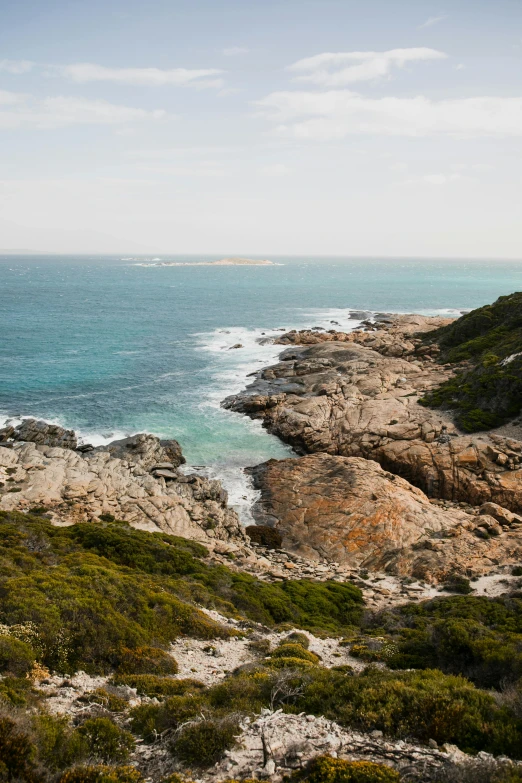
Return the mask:
[[[161,668],[163,650],[180,635],[230,636],[195,603],[269,626],[332,633],[362,614],[353,585],[267,584],[210,565],[206,555],[193,541],[122,523],[64,528],[0,512],[0,623],[27,627],[12,642],[13,658],[26,661],[18,668],[38,660],[61,672],[142,673],[138,650]],[[9,658],[7,644],[0,641],[0,662]]]

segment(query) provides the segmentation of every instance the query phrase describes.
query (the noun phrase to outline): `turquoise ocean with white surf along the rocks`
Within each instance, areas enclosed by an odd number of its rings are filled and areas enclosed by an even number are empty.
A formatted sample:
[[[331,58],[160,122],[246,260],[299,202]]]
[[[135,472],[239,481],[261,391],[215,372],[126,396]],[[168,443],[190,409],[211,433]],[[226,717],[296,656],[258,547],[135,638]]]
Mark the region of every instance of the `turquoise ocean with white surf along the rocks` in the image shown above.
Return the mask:
[[[144,431],[176,438],[190,466],[223,480],[245,521],[253,494],[243,467],[291,454],[219,405],[275,361],[280,347],[260,338],[353,328],[350,309],[457,316],[522,289],[522,262],[494,259],[139,265],[152,260],[0,256],[0,423],[43,418],[95,445]]]

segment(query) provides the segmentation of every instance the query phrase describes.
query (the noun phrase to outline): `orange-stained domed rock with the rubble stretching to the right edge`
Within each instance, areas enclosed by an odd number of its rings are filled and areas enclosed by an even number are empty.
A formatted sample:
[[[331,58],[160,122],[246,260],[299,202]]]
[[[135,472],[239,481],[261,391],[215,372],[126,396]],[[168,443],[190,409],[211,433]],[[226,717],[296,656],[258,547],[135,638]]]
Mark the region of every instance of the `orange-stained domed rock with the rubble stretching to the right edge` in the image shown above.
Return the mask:
[[[434,505],[372,460],[314,454],[270,460],[253,473],[257,521],[281,533],[283,549],[311,561],[437,582],[522,560],[522,526]]]

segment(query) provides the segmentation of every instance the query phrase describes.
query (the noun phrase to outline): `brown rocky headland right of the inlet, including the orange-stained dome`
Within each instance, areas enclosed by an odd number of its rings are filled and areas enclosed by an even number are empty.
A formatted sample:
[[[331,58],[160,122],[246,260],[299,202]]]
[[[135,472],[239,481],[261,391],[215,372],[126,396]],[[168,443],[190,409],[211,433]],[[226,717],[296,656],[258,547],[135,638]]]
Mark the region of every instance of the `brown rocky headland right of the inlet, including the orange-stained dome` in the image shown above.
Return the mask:
[[[522,442],[421,404],[455,377],[429,340],[450,324],[288,332],[278,364],[224,402],[309,455],[253,471],[257,519],[284,548],[435,582],[522,559]]]

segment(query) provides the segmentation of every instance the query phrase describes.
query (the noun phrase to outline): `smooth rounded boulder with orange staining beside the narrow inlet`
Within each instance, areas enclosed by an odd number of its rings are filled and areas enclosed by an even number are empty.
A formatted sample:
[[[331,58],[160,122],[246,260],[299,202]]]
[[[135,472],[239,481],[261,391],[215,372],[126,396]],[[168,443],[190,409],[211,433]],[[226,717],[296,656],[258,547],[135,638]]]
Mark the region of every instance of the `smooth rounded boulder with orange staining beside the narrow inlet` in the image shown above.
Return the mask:
[[[313,454],[253,469],[261,500],[256,520],[275,527],[282,546],[312,560],[378,568],[388,555],[430,533],[471,526],[420,489],[360,457]]]

